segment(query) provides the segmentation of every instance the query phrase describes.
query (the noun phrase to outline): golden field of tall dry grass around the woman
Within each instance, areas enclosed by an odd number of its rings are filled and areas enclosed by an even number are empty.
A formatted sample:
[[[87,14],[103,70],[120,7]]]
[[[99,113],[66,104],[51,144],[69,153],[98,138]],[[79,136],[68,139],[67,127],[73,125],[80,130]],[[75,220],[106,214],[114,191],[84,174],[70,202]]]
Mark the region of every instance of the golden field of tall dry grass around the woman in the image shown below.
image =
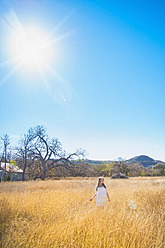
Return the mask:
[[[89,199],[97,178],[0,184],[0,247],[165,247],[165,178],[105,178],[111,202]]]

